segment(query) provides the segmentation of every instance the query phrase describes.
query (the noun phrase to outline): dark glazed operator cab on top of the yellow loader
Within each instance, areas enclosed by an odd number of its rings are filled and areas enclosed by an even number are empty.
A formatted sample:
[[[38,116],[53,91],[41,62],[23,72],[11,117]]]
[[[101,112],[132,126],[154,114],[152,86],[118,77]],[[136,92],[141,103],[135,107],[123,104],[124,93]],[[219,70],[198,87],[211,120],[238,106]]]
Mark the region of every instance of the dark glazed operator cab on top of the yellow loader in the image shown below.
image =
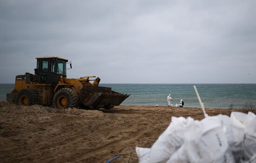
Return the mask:
[[[35,70],[36,81],[40,84],[58,84],[60,77],[67,77],[67,59],[60,57],[38,57]]]

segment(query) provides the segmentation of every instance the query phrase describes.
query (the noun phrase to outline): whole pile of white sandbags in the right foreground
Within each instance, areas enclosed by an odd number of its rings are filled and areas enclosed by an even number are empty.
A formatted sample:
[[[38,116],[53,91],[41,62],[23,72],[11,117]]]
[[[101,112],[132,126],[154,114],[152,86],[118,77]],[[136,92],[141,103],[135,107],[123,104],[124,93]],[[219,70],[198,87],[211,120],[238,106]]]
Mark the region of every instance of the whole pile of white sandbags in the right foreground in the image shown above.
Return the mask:
[[[152,148],[136,152],[139,163],[256,163],[256,115],[172,117]]]

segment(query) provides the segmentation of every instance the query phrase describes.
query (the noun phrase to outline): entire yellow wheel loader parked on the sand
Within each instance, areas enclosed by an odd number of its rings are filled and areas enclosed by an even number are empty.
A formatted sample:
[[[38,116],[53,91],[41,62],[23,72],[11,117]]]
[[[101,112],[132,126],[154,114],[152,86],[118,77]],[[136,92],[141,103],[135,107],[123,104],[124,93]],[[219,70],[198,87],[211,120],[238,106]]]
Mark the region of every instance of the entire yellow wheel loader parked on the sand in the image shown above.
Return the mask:
[[[67,59],[57,56],[37,57],[35,74],[17,75],[15,88],[7,94],[9,103],[17,105],[54,105],[55,108],[80,107],[110,109],[121,104],[130,94],[99,87],[100,78],[87,76],[68,79]],[[70,63],[70,68],[72,64]],[[93,81],[93,82],[92,82]]]

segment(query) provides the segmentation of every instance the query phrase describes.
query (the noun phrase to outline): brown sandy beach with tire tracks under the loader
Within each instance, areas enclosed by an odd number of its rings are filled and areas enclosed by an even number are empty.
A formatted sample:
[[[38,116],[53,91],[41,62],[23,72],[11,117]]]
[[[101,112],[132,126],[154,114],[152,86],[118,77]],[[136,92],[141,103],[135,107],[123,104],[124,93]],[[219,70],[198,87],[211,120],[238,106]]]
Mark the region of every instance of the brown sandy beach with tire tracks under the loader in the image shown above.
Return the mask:
[[[206,109],[209,115],[240,109]],[[0,102],[0,160],[137,163],[135,147],[151,147],[171,117],[202,119],[200,108],[118,106],[110,110],[20,107]]]

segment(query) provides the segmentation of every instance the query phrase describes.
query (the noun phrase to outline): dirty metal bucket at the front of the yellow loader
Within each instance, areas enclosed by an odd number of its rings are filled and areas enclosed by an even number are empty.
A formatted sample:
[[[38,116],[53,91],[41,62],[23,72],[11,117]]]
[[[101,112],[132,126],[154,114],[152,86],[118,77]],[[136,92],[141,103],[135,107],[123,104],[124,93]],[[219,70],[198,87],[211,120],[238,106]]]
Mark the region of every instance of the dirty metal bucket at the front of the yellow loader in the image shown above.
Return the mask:
[[[83,86],[79,93],[81,103],[90,109],[110,109],[120,105],[129,95],[112,91],[108,87],[87,85]]]

